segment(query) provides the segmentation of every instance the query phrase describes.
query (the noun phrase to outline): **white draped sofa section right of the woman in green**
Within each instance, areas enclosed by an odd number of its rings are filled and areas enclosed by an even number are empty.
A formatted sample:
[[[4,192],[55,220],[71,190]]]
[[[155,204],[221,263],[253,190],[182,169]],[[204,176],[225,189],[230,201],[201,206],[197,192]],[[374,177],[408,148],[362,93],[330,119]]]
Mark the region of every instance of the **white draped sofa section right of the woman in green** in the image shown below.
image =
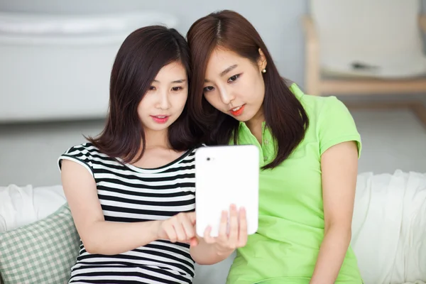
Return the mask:
[[[426,173],[358,176],[352,241],[365,284],[426,280]]]

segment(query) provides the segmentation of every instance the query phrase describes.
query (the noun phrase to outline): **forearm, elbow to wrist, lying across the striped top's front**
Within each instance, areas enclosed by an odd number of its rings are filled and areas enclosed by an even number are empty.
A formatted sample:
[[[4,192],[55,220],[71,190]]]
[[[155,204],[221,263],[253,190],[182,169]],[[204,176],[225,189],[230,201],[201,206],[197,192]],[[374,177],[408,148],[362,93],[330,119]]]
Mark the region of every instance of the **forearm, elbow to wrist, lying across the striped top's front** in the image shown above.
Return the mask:
[[[158,239],[160,221],[119,223],[94,222],[82,238],[89,253],[113,255],[131,251]]]

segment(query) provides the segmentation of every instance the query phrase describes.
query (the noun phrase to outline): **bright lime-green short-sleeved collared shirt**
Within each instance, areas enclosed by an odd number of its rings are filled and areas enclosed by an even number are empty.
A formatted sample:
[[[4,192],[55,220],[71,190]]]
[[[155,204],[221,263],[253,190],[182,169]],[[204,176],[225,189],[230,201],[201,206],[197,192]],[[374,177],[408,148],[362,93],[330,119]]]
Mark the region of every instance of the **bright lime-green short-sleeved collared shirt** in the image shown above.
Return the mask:
[[[273,170],[259,177],[259,223],[237,251],[227,283],[309,283],[324,238],[321,155],[327,148],[361,138],[348,109],[336,97],[315,97],[296,84],[291,91],[300,100],[310,126],[295,151]],[[275,158],[274,140],[263,124],[262,145],[244,123],[239,144],[259,147],[261,165]],[[362,283],[354,251],[349,247],[336,283]]]

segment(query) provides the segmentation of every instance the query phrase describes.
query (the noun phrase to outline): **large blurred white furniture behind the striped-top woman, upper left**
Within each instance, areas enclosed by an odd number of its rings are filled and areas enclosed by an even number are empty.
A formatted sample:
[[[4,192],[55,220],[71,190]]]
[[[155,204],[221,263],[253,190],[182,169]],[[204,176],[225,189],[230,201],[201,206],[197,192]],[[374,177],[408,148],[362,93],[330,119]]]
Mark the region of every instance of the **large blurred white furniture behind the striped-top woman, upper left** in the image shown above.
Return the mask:
[[[0,122],[103,119],[112,63],[127,35],[178,23],[175,15],[148,10],[0,12]]]

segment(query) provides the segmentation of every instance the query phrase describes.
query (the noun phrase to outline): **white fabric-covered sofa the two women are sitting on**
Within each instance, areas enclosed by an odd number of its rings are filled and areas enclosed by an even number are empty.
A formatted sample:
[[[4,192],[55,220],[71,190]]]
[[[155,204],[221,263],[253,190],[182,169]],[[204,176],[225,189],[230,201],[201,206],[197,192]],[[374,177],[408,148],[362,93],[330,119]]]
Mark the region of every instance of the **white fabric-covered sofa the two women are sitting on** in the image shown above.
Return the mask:
[[[60,185],[0,187],[0,234],[43,219],[66,202]],[[352,241],[365,284],[426,282],[426,173],[358,176]],[[221,284],[234,255],[196,266],[194,284]]]

